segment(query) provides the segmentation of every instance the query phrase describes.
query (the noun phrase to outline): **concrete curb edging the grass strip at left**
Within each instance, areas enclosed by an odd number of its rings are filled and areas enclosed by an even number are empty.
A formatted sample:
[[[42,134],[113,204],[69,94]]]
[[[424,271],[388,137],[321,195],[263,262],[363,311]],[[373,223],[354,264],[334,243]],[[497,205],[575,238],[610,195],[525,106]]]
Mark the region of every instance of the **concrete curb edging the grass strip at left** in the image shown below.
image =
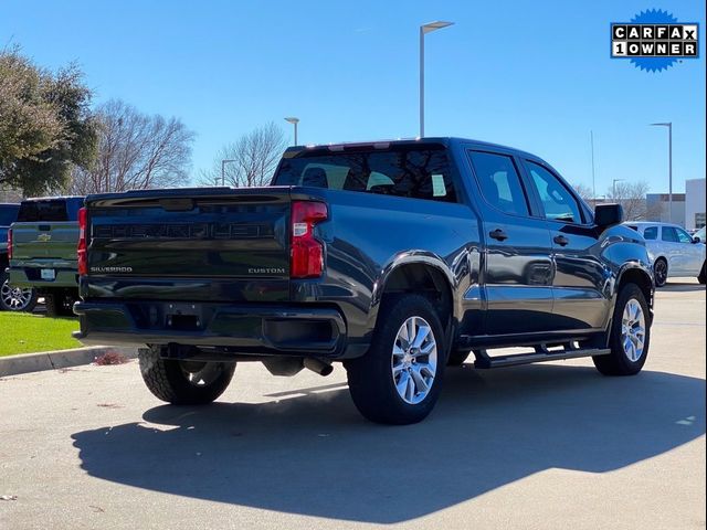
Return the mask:
[[[21,353],[0,357],[0,378],[21,373],[56,370],[61,368],[91,364],[105,353],[120,353],[128,359],[137,357],[137,348],[119,346],[91,346],[73,350],[42,351],[40,353]]]

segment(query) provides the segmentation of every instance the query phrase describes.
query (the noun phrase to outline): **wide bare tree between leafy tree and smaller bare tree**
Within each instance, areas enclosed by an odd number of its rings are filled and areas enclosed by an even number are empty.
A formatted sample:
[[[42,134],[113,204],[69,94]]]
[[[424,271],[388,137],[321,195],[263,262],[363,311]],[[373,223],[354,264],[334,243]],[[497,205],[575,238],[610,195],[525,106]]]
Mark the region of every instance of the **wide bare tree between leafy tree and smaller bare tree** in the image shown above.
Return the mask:
[[[68,192],[167,188],[188,180],[194,134],[179,119],[148,116],[118,99],[99,106],[96,116],[96,163],[74,171]]]

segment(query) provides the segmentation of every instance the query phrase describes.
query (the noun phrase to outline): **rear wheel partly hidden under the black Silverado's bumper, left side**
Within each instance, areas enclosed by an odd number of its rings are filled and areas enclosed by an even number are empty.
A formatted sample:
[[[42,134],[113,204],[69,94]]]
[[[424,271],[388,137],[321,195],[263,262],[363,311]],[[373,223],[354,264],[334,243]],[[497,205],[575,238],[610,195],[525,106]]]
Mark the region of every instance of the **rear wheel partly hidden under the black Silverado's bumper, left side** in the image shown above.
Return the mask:
[[[175,405],[203,405],[229,386],[235,362],[201,362],[160,358],[159,350],[139,352],[140,372],[149,391]]]

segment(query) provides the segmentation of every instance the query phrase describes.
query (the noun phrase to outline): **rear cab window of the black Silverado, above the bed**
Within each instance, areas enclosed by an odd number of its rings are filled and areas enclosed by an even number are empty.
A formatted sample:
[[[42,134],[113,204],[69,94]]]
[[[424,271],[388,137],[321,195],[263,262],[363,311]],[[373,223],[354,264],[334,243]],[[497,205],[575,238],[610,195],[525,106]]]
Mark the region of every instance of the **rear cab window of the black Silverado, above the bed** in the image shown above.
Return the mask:
[[[346,146],[284,158],[273,186],[305,186],[457,202],[456,168],[441,145]]]

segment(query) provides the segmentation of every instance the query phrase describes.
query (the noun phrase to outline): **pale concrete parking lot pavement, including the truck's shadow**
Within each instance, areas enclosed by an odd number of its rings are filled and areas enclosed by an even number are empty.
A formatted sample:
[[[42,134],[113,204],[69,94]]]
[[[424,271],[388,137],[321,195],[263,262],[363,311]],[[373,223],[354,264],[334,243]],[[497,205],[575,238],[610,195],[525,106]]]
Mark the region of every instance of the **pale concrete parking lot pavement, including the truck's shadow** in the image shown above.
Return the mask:
[[[136,362],[0,380],[0,528],[705,528],[705,288],[656,301],[635,378],[580,359],[450,369],[422,424],[362,420],[345,372],[242,364],[170,407]]]

